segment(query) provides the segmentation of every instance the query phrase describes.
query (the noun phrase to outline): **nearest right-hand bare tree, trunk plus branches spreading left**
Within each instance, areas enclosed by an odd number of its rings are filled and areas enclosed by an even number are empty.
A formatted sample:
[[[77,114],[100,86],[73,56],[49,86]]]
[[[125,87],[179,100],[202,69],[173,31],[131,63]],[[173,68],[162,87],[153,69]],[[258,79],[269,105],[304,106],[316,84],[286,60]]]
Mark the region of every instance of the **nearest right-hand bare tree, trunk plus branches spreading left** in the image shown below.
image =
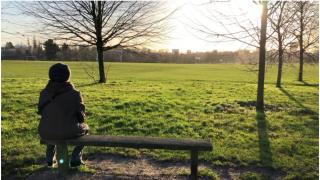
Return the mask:
[[[211,1],[210,1],[211,3]],[[216,24],[216,27],[208,24],[203,24],[200,21],[193,20],[195,30],[204,35],[200,38],[208,42],[229,42],[238,41],[248,47],[259,49],[258,62],[258,88],[256,109],[264,110],[264,76],[266,62],[266,40],[267,37],[267,17],[268,17],[268,2],[254,1],[256,4],[262,5],[262,15],[260,24],[253,22],[247,16],[248,12],[241,14],[227,15],[223,12],[211,9],[207,14],[203,13],[204,17]],[[198,36],[199,37],[199,36]]]

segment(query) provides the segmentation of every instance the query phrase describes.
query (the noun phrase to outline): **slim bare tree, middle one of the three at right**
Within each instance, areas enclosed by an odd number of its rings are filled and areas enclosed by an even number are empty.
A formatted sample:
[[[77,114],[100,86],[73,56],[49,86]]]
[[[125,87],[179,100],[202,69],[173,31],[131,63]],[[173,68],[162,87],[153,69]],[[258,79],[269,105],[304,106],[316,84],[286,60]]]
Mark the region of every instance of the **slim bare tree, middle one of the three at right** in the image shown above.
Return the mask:
[[[270,57],[278,59],[278,73],[276,87],[281,87],[282,66],[284,62],[284,54],[288,47],[296,40],[295,36],[289,32],[294,23],[295,11],[292,11],[290,2],[276,1],[270,3],[270,13],[268,20],[270,24],[270,42],[275,45],[277,51],[271,52]],[[290,52],[287,52],[290,53]]]

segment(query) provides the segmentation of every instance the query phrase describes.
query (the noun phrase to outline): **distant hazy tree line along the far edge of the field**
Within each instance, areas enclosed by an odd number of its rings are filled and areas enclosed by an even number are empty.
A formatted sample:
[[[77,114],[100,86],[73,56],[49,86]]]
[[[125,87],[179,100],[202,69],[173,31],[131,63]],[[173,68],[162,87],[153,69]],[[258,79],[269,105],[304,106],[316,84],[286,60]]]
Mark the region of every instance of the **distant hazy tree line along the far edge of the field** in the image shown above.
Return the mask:
[[[142,62],[142,63],[183,63],[183,64],[219,64],[219,63],[258,63],[259,50],[237,51],[207,51],[172,53],[168,50],[150,50],[147,48],[130,49],[117,48],[106,51],[103,60],[106,62]],[[275,50],[267,52],[266,62],[276,64]],[[67,43],[58,45],[54,40],[48,39],[44,43],[37,42],[34,38],[32,45],[14,45],[7,42],[2,47],[3,60],[55,60],[55,61],[96,61],[97,53],[94,47],[71,46]],[[283,55],[286,62],[298,63],[297,55]],[[319,53],[311,52],[304,57],[305,63],[318,63]]]

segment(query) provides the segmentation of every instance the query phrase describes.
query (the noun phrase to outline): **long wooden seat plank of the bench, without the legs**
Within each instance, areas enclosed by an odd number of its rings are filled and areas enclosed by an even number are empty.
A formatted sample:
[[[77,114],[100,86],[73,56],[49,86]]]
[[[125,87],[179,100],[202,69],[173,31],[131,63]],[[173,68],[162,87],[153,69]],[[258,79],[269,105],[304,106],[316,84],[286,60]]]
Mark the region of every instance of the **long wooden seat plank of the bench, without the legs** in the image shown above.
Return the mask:
[[[175,139],[143,136],[86,135],[69,140],[41,140],[42,144],[127,147],[170,150],[211,151],[212,144],[202,139]]]

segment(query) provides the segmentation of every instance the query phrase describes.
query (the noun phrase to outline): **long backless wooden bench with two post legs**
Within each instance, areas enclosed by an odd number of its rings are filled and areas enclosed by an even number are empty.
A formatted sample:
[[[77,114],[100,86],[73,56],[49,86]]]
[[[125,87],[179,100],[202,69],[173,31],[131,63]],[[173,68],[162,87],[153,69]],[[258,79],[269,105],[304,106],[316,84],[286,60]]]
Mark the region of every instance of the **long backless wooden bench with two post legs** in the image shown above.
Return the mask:
[[[69,140],[44,140],[41,144],[57,145],[58,171],[65,175],[69,169],[67,145],[127,147],[145,149],[189,150],[191,152],[191,179],[197,179],[198,151],[211,151],[212,144],[199,139],[174,139],[138,136],[86,135]]]

